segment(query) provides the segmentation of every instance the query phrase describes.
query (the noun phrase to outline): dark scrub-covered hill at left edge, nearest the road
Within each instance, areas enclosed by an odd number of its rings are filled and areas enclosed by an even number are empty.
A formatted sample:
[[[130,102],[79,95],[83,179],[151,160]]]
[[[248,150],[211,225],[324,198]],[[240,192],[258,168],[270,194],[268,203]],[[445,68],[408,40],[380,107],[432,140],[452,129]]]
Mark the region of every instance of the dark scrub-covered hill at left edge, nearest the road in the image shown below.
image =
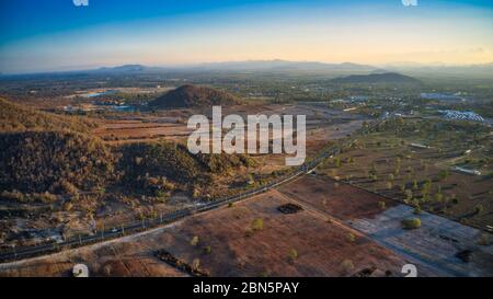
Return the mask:
[[[114,157],[87,135],[61,131],[0,134],[0,188],[21,192],[95,189],[113,175]]]

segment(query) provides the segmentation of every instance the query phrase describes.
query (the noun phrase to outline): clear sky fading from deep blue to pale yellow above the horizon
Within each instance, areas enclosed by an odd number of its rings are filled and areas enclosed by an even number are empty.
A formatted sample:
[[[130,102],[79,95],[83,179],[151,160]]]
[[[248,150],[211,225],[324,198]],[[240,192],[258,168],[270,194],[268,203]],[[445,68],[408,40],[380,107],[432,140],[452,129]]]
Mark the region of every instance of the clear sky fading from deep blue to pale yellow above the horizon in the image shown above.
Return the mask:
[[[491,0],[80,1],[0,0],[0,72],[271,59],[493,62]]]

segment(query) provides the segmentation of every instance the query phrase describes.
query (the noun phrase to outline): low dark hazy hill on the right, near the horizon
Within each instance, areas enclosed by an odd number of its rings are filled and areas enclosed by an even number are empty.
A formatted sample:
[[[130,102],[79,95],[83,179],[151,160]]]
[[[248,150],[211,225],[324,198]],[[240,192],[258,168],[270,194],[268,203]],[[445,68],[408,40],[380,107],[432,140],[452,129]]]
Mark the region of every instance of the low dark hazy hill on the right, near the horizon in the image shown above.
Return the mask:
[[[420,84],[421,81],[409,76],[397,72],[352,74],[348,77],[333,79],[334,83],[393,83],[393,84]]]

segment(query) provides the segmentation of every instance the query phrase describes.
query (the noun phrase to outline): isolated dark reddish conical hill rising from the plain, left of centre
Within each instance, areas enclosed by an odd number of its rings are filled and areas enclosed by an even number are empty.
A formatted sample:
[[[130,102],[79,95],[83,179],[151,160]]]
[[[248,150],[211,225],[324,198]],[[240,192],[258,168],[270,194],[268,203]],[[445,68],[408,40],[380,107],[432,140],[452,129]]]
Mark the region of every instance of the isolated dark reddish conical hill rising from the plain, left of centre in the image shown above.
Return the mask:
[[[233,105],[239,99],[230,93],[213,88],[183,85],[149,103],[150,107],[203,107],[211,105]]]

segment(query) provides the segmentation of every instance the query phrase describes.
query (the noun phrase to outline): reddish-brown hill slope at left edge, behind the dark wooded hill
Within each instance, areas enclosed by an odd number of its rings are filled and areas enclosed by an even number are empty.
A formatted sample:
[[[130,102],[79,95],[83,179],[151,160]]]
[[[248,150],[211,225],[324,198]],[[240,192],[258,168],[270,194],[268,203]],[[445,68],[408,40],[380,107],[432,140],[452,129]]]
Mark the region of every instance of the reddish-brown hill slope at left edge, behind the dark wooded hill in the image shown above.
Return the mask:
[[[89,131],[89,120],[77,116],[62,116],[41,112],[0,97],[0,131],[73,130]]]

